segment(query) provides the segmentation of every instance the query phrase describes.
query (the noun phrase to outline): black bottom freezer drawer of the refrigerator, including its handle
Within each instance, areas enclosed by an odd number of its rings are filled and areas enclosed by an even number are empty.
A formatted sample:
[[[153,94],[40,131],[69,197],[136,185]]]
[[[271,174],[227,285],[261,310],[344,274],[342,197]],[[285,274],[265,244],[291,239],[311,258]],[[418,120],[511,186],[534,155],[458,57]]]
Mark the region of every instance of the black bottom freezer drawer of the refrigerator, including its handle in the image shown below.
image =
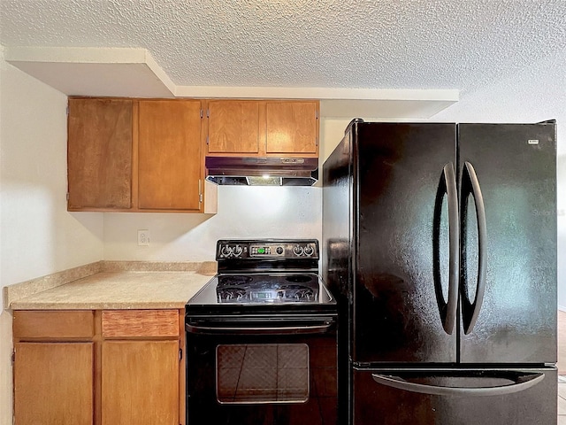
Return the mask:
[[[556,423],[557,370],[354,368],[354,425]]]

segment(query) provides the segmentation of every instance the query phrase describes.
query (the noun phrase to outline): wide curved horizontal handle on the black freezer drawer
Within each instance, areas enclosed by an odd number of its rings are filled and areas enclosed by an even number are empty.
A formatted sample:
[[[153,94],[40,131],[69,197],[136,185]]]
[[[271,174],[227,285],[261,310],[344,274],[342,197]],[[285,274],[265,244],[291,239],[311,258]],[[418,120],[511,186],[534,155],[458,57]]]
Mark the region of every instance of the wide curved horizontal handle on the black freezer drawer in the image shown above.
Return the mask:
[[[376,383],[399,390],[431,394],[435,396],[502,396],[527,390],[545,379],[544,374],[516,374],[515,383],[495,387],[447,387],[439,385],[426,385],[424,383],[410,383],[401,376],[371,374]],[[509,379],[509,376],[504,376]],[[489,376],[493,378],[493,376]]]

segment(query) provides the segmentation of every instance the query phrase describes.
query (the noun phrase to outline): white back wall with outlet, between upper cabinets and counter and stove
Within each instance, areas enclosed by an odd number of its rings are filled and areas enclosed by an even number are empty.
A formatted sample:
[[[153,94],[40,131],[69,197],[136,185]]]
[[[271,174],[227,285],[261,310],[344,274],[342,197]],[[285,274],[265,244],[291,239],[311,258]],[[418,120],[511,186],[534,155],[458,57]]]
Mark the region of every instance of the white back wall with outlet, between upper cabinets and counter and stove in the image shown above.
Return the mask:
[[[213,261],[222,238],[320,239],[318,187],[218,187],[218,214],[104,213],[104,259]],[[137,229],[149,246],[137,246]]]

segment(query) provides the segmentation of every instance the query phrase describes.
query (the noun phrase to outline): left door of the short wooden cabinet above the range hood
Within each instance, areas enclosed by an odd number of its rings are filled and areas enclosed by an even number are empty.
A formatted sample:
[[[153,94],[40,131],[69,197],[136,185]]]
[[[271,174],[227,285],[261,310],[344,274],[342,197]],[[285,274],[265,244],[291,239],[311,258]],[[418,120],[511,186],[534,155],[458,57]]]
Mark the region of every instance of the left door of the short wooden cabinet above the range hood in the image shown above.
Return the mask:
[[[249,100],[211,100],[209,153],[257,153],[259,105],[259,102]]]

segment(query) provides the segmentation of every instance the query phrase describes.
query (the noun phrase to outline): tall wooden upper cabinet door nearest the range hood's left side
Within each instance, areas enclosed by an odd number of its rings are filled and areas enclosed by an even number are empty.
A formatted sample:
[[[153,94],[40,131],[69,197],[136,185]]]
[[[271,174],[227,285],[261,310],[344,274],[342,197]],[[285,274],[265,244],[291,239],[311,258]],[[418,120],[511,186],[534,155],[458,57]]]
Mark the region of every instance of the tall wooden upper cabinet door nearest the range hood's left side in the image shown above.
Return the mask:
[[[201,102],[140,102],[138,207],[199,211]]]

